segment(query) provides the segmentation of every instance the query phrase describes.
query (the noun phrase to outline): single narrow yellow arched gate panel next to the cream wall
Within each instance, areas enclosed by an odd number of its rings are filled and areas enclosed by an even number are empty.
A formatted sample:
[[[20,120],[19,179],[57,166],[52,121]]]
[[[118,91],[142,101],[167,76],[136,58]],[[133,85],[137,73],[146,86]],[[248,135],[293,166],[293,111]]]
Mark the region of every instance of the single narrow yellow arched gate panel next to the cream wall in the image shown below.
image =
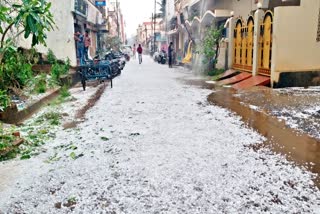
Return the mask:
[[[260,27],[259,74],[270,75],[272,55],[272,13],[267,12]]]

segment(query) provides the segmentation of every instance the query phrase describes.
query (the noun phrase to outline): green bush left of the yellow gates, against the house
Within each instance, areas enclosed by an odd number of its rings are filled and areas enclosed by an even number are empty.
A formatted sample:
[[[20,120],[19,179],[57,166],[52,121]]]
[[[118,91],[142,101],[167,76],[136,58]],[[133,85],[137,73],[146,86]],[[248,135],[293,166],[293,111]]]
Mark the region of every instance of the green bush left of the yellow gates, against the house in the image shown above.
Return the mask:
[[[216,68],[218,62],[218,56],[220,53],[220,41],[223,37],[223,26],[217,28],[212,26],[206,31],[205,37],[198,49],[201,54],[204,55],[204,63],[209,63],[212,68]]]

